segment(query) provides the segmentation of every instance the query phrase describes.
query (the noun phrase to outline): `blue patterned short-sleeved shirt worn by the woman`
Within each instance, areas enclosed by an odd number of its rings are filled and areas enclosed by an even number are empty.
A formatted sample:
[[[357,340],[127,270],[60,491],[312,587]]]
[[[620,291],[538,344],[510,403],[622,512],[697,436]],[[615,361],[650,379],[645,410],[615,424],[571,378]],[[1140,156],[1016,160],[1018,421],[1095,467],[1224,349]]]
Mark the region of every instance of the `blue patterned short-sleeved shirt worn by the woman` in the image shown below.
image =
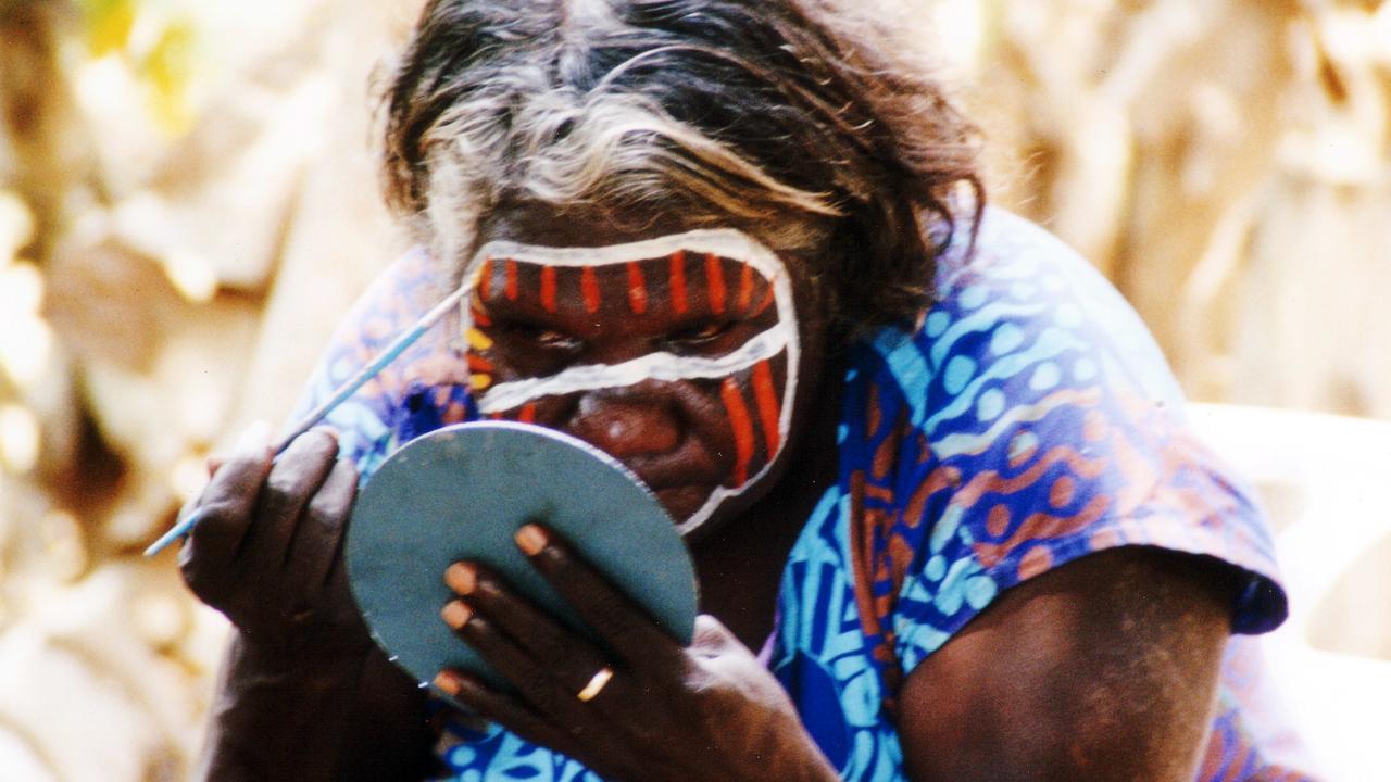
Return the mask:
[[[434,301],[448,274],[399,260],[339,330],[305,409]],[[1148,331],[1082,259],[990,210],[974,253],[939,259],[911,328],[851,346],[839,480],[783,572],[771,668],[844,779],[904,779],[906,675],[1000,593],[1120,545],[1203,554],[1245,587],[1198,779],[1308,779],[1251,635],[1285,596],[1245,486],[1184,423]],[[441,324],[328,419],[364,480],[399,444],[476,416],[455,324]],[[451,779],[594,781],[498,726],[442,719]]]

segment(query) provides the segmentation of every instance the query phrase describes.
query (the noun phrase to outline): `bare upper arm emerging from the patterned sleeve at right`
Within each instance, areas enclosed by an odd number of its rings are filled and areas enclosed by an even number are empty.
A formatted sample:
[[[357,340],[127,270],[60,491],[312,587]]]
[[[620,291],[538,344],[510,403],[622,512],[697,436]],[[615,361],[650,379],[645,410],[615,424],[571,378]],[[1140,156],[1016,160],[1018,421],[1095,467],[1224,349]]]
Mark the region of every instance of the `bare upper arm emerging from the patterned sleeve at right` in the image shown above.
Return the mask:
[[[1191,782],[1230,598],[1200,558],[1135,547],[1010,589],[904,683],[910,775]]]

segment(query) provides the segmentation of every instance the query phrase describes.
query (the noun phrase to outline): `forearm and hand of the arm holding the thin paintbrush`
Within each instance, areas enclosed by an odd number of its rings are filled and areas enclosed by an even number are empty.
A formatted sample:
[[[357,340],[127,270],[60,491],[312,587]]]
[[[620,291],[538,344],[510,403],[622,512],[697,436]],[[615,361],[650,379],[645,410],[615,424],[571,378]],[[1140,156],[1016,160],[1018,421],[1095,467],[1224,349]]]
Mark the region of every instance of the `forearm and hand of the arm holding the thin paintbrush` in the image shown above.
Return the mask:
[[[199,501],[179,555],[200,600],[235,626],[202,778],[420,779],[421,694],[367,636],[341,541],[357,472],[316,430],[271,463],[243,440]]]

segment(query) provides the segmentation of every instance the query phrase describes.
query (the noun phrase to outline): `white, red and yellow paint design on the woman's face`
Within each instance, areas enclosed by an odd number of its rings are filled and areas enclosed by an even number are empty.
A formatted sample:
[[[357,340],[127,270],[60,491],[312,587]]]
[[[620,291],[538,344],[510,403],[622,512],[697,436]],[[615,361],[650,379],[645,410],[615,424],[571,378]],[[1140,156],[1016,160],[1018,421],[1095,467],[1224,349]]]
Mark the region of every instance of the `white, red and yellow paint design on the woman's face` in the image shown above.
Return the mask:
[[[470,385],[485,416],[534,422],[547,399],[644,380],[709,388],[725,410],[733,454],[723,483],[682,532],[755,484],[782,452],[800,349],[791,278],[782,259],[748,235],[691,231],[605,248],[490,242],[466,266],[463,285]],[[506,330],[516,321],[541,323],[529,333],[542,346],[533,352],[554,346],[562,359],[529,366],[509,355]],[[573,337],[552,323],[576,324]],[[612,363],[568,358],[588,338],[586,330],[629,326],[651,331],[651,349]]]

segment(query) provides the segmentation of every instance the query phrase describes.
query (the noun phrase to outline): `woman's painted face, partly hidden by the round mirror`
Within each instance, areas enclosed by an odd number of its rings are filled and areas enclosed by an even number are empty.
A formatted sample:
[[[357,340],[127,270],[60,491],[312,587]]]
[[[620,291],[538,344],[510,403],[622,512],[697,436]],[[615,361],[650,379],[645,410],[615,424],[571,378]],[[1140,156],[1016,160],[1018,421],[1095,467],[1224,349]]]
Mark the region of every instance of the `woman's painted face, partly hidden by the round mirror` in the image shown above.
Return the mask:
[[[490,214],[463,271],[470,383],[484,416],[622,461],[689,533],[779,479],[819,384],[825,317],[801,259],[732,228],[648,225]]]

